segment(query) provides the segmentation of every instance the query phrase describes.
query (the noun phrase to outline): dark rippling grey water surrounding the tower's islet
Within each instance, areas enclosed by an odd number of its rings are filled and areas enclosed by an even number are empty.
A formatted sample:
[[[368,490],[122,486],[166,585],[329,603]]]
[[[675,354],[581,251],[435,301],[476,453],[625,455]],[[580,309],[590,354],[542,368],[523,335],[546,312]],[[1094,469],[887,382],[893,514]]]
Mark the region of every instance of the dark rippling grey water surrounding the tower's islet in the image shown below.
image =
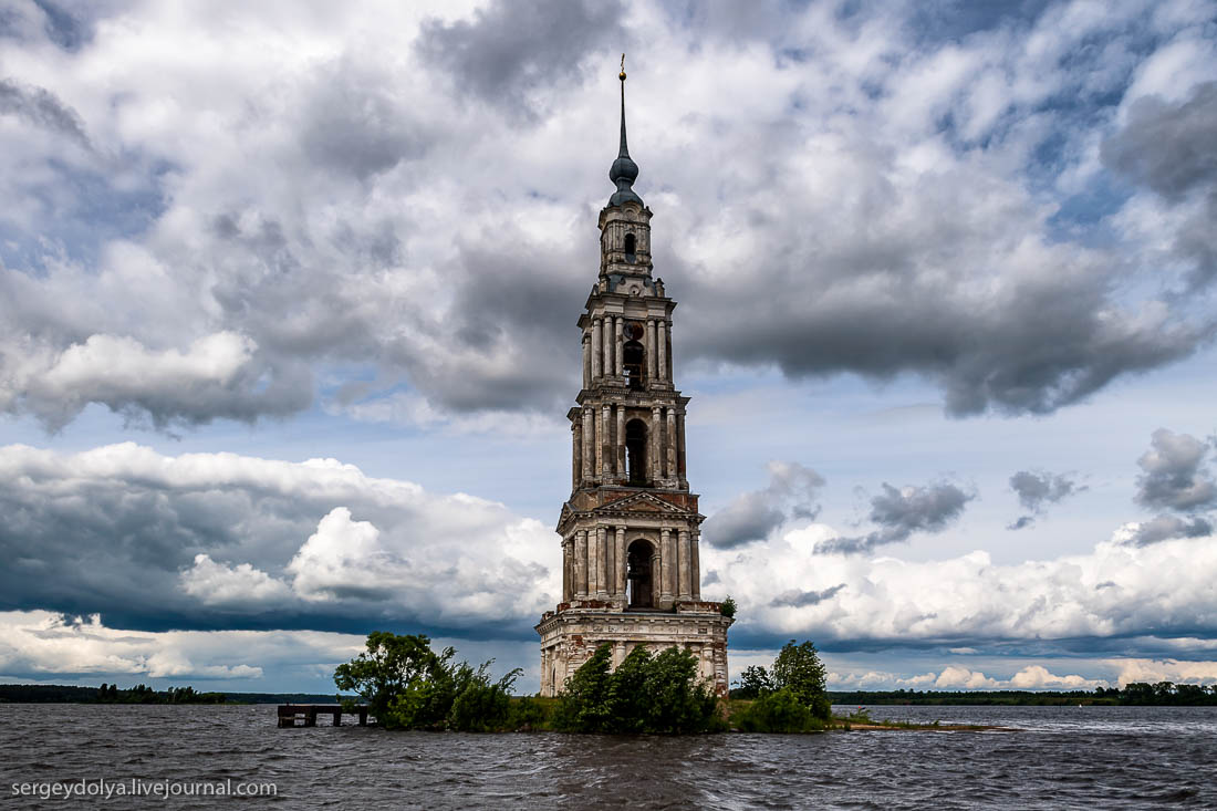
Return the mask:
[[[849,707],[853,709],[853,707]],[[1217,707],[881,706],[875,718],[1017,732],[692,738],[277,729],[275,707],[0,705],[12,783],[271,782],[241,807],[1217,807]],[[214,798],[145,799],[214,807]]]

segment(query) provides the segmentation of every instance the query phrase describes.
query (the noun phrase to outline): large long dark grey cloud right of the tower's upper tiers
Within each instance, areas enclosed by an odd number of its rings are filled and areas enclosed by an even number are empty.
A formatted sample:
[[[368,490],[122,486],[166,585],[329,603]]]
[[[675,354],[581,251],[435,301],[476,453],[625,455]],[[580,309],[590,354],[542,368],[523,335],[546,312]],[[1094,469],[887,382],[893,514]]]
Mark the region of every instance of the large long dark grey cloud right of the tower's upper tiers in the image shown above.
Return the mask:
[[[859,273],[836,295],[819,297],[814,275],[780,278],[793,272],[787,268],[768,286],[740,291],[747,300],[765,297],[734,309],[724,304],[738,298],[722,289],[694,289],[692,348],[747,365],[776,363],[793,379],[919,371],[938,384],[955,416],[986,409],[1047,414],[1121,375],[1185,358],[1213,332],[1212,324],[1112,319],[1103,292],[1109,283],[1098,275],[1066,273],[980,303],[940,287],[937,270],[902,270],[902,263],[892,257],[892,268],[869,283]],[[862,295],[864,284],[875,292]],[[776,287],[785,287],[780,298],[767,292]]]

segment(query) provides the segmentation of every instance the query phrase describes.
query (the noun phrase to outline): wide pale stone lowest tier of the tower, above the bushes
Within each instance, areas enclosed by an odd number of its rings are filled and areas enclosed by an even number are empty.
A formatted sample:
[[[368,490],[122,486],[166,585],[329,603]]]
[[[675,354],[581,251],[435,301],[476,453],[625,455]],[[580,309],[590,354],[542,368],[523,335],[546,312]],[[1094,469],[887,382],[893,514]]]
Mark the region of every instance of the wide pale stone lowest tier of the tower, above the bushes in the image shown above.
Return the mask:
[[[719,603],[680,602],[674,611],[622,611],[605,603],[588,603],[593,602],[562,603],[537,623],[542,695],[561,693],[566,679],[607,643],[613,670],[638,645],[646,645],[651,653],[673,645],[688,650],[697,658],[697,679],[710,682],[717,695],[727,697],[727,630],[734,620],[720,614]]]

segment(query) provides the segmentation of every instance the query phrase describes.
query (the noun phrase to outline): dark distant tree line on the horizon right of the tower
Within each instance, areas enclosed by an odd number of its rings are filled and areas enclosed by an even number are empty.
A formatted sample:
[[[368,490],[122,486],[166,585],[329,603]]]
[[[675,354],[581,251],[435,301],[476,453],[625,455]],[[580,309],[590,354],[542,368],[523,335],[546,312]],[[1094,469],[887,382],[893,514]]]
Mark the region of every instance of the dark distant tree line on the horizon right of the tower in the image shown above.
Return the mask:
[[[745,671],[746,676],[746,671]],[[742,679],[741,679],[742,682]],[[731,690],[735,697],[744,689]],[[1111,706],[1217,706],[1217,684],[1176,684],[1174,682],[1131,682],[1094,690],[880,690],[831,692],[834,704],[957,704],[957,705],[1067,705]]]

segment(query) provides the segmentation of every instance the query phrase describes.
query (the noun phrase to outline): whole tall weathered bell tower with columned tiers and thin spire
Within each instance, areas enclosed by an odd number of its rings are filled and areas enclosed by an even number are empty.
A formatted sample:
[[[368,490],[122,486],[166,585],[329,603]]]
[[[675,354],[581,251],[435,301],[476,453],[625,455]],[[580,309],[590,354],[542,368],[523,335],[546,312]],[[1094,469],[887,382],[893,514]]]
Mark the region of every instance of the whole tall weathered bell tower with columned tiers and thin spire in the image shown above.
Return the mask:
[[[608,170],[617,190],[600,212],[600,275],[578,326],[583,388],[567,416],[571,497],[562,505],[562,602],[535,626],[542,695],[556,695],[595,649],[616,667],[636,645],[694,653],[699,677],[727,694],[720,604],[701,599],[697,496],[685,477],[685,409],[672,376],[672,312],[652,276],[651,209],[634,191],[626,141]]]

